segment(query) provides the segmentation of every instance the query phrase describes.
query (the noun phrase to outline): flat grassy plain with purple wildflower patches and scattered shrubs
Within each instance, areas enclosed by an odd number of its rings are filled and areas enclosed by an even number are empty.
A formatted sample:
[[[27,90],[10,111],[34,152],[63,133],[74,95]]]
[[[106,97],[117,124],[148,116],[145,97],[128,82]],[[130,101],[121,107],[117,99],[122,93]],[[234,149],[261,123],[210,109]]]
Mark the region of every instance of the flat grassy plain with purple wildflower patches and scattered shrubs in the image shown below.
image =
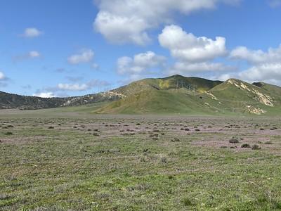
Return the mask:
[[[0,111],[0,210],[281,210],[273,117]]]

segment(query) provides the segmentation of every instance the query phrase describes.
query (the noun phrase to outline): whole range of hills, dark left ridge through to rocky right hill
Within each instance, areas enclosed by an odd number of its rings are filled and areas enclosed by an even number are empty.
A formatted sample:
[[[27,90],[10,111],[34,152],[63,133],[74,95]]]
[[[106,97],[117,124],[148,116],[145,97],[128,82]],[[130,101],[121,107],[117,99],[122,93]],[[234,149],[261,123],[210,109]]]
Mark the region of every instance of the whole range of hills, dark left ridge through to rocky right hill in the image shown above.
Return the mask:
[[[174,75],[142,79],[111,91],[70,98],[0,92],[0,108],[39,109],[107,102],[93,113],[281,115],[281,87],[239,79],[226,82]]]

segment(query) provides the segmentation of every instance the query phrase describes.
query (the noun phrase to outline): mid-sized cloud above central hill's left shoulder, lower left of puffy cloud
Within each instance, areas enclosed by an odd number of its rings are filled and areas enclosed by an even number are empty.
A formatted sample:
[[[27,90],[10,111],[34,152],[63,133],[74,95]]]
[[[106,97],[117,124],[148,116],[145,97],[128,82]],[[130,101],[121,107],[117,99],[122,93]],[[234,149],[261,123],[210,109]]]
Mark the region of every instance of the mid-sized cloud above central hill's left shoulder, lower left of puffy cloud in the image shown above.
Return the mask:
[[[152,51],[139,53],[131,57],[124,56],[117,60],[117,72],[121,75],[141,75],[159,69],[165,63],[166,58]]]

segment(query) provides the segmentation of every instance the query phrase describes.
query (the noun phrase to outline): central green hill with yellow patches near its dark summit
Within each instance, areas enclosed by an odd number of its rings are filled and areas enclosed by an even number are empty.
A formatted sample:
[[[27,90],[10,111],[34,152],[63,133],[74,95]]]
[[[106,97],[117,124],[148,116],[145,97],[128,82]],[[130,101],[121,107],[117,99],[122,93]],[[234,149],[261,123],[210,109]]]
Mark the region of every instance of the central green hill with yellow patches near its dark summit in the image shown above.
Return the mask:
[[[214,108],[202,103],[200,94],[221,83],[181,75],[143,79],[113,90],[126,98],[110,103],[96,113],[214,113]]]

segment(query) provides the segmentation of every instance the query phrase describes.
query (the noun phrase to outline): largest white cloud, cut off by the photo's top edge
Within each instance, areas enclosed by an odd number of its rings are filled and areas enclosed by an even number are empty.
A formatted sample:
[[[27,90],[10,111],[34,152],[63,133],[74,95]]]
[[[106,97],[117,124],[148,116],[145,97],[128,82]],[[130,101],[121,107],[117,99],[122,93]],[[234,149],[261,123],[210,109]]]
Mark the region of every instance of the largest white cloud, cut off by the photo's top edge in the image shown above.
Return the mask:
[[[216,4],[237,4],[240,0],[96,0],[99,8],[93,25],[103,36],[117,44],[147,44],[148,30],[173,23],[174,13],[188,15]]]

